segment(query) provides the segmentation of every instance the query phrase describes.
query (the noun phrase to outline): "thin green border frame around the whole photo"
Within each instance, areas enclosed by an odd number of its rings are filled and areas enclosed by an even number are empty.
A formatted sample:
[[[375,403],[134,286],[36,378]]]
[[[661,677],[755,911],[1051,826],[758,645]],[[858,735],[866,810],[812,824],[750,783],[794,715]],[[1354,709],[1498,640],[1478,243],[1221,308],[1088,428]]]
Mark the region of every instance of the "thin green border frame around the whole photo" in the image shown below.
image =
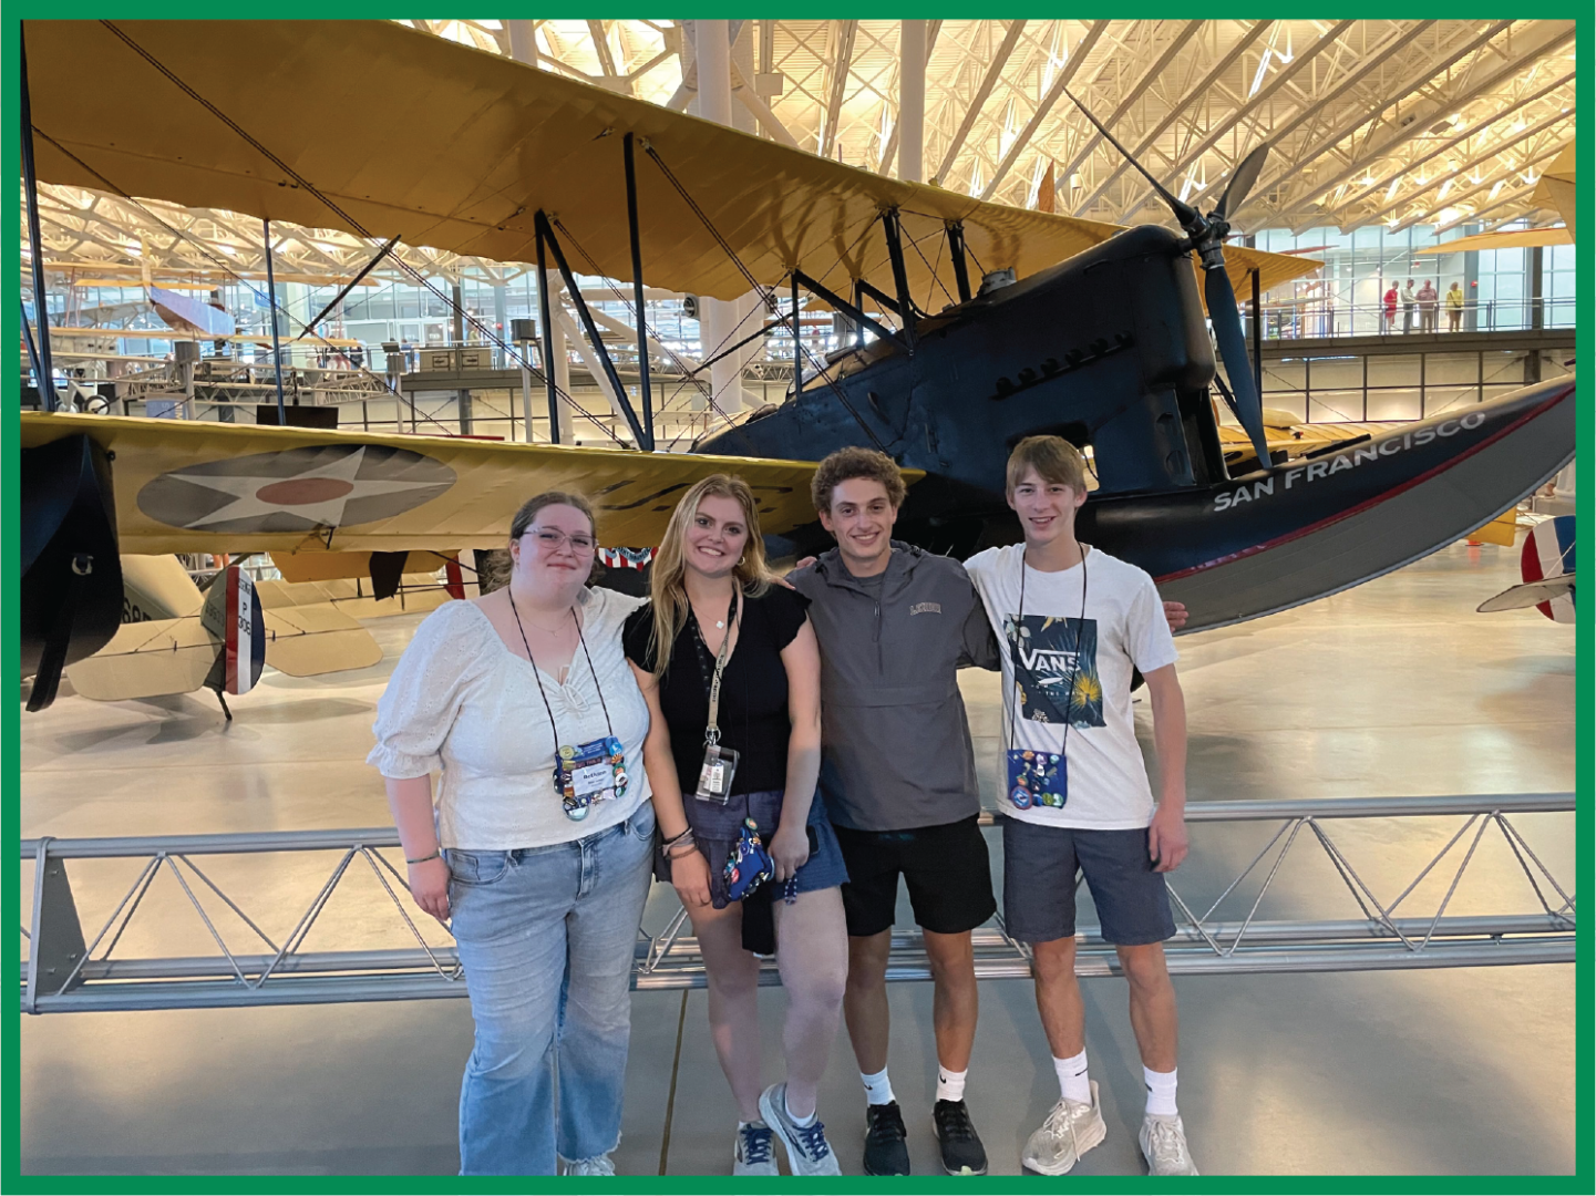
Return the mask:
[[[1435,3],[1435,0],[1430,0]],[[401,8],[407,8],[402,5]],[[514,5],[512,5],[514,6]],[[1411,8],[1427,8],[1427,3],[1412,5]],[[373,5],[369,0],[343,0],[335,3],[337,16],[340,18],[394,18],[404,16],[404,13],[394,13],[391,8]],[[567,5],[559,5],[559,8],[567,8]],[[718,5],[712,6],[718,8]],[[828,6],[827,6],[828,8]],[[1264,13],[1246,11],[1253,8],[1251,5],[1226,5],[1232,11],[1223,13],[1224,19],[1234,18],[1262,18]],[[1363,3],[1352,5],[1329,5],[1334,10],[1334,16],[1347,16],[1349,13],[1357,18],[1366,19],[1392,19],[1392,18],[1411,18],[1417,16],[1416,11],[1392,13],[1385,6],[1376,6],[1363,0]],[[70,11],[69,11],[70,10]],[[876,19],[883,18],[919,18],[930,16],[937,10],[943,13],[953,13],[954,19],[969,16],[967,6],[959,5],[894,5],[889,13],[876,13]],[[929,11],[927,11],[929,10]],[[1240,11],[1237,11],[1240,10]],[[737,18],[742,16],[745,10],[737,11],[731,8],[723,11],[723,16]],[[539,16],[547,16],[547,11],[539,13]],[[570,11],[573,18],[587,18],[591,10],[575,8]],[[1058,10],[1052,5],[1034,3],[1018,3],[1010,5],[1005,11],[1007,16],[1039,16],[1039,18],[1057,18]],[[1436,5],[1436,14],[1444,19],[1500,19],[1502,5],[1479,5],[1465,3],[1440,6]],[[172,18],[172,19],[196,19],[207,18],[215,19],[217,16],[227,16],[219,13],[214,3],[193,3],[193,0],[166,0],[166,3],[148,3],[139,0],[124,0],[118,5],[104,3],[61,3],[61,0],[11,0],[6,5],[3,18],[0,18],[0,78],[3,78],[3,89],[0,89],[0,161],[6,163],[6,169],[11,171],[13,179],[21,179],[21,141],[19,141],[19,125],[16,118],[19,89],[18,89],[18,30],[22,19],[64,19],[64,18],[99,18],[99,16],[117,16],[117,18]],[[239,13],[238,16],[259,18],[263,13]],[[275,13],[279,19],[326,19],[329,14],[326,3],[305,3],[303,0],[289,0],[287,3],[279,3]],[[415,16],[423,16],[417,13]],[[425,14],[434,18],[436,14]],[[506,14],[508,16],[508,14]],[[610,13],[611,18],[621,16],[643,16],[642,13]],[[707,16],[707,14],[704,14]],[[828,16],[824,8],[820,13],[814,13],[812,19],[820,19]],[[835,13],[835,16],[844,16],[844,13]],[[1119,13],[1120,18],[1189,18],[1189,6],[1178,6],[1163,0],[1162,3],[1149,3],[1149,0],[1141,0],[1128,13]],[[1210,14],[1213,16],[1213,14]],[[1596,14],[1591,8],[1580,3],[1550,3],[1537,5],[1537,11],[1532,14],[1534,19],[1574,19],[1578,22],[1577,34],[1577,69],[1583,77],[1596,78]],[[1519,19],[1529,19],[1529,14]],[[1580,88],[1583,97],[1583,86]],[[1596,161],[1593,158],[1593,150],[1596,150],[1596,123],[1591,126],[1580,128],[1575,134],[1578,145],[1578,156],[1583,163]],[[1586,168],[1590,169],[1590,168]],[[13,217],[5,220],[0,227],[22,228],[22,212],[19,192],[8,192],[5,198],[5,206],[0,208],[6,216]],[[1591,217],[1596,208],[1596,187],[1586,185],[1578,195],[1578,222],[1580,227],[1590,230]],[[1575,332],[1577,345],[1577,364],[1575,377],[1583,391],[1578,406],[1578,425],[1577,438],[1578,444],[1585,446],[1582,458],[1590,455],[1593,447],[1593,434],[1596,434],[1596,415],[1593,415],[1593,406],[1596,406],[1596,386],[1593,386],[1593,345],[1591,342],[1591,315],[1596,310],[1596,254],[1593,254],[1593,243],[1596,243],[1596,235],[1588,233],[1585,244],[1578,248],[1578,327]],[[3,270],[5,278],[19,278],[21,271],[21,238],[19,236],[0,236],[0,270]],[[18,327],[19,310],[10,305],[0,305],[0,332],[6,337],[3,343],[16,345],[16,340],[10,337],[21,337]],[[18,414],[19,414],[19,380],[18,375],[10,374],[10,370],[0,372],[0,677],[16,677],[21,667],[19,664],[19,645],[18,645],[18,511],[19,511],[19,482],[18,482]],[[1583,465],[1583,461],[1582,461]],[[1586,465],[1588,468],[1588,465]],[[1593,508],[1596,508],[1596,489],[1593,489],[1593,479],[1586,477],[1583,487],[1580,489],[1578,498],[1578,517],[1582,525],[1593,527],[1591,522]],[[1586,576],[1591,575],[1591,567],[1596,564],[1593,560],[1593,551],[1596,551],[1596,535],[1583,535],[1578,541],[1578,570]],[[1575,658],[1578,666],[1578,679],[1575,685],[1575,727],[1585,725],[1583,719],[1590,717],[1591,712],[1591,685],[1596,679],[1596,659],[1593,659],[1593,650],[1596,650],[1596,640],[1593,640],[1593,626],[1596,626],[1596,618],[1593,618],[1593,604],[1585,604],[1578,612],[1578,626],[1575,629]],[[1596,830],[1596,810],[1591,808],[1590,802],[1596,797],[1596,776],[1593,776],[1593,763],[1596,763],[1596,755],[1593,755],[1593,739],[1591,736],[1580,736],[1577,731],[1575,746],[1575,789],[1578,792],[1578,808],[1575,813],[1575,883],[1577,889],[1585,889],[1586,893],[1593,888],[1593,830]],[[11,904],[16,901],[18,885],[21,883],[21,862],[16,856],[10,854],[5,845],[14,843],[21,838],[21,776],[18,771],[18,757],[21,746],[21,704],[3,703],[0,704],[0,920],[10,923],[13,917]],[[21,952],[19,945],[13,945],[16,941],[10,934],[0,936],[0,974],[16,976],[13,971],[19,964]],[[1591,1016],[1593,1016],[1593,1000],[1596,1000],[1596,985],[1593,985],[1593,955],[1591,955],[1591,925],[1586,920],[1578,929],[1578,948],[1575,963],[1575,1057],[1577,1057],[1577,1081],[1575,1081],[1575,1105],[1574,1105],[1574,1124],[1575,1127],[1585,1126],[1585,1131],[1575,1131],[1578,1139],[1575,1142],[1575,1172],[1574,1175],[1414,1175],[1414,1177],[1393,1177],[1393,1175],[1245,1175],[1245,1177],[1203,1177],[1195,1180],[1152,1180],[1148,1177],[1076,1177],[1076,1178],[1057,1178],[1049,1180],[1044,1177],[988,1177],[988,1178],[951,1178],[951,1177],[903,1177],[903,1178],[867,1178],[867,1177],[844,1177],[832,1180],[801,1180],[782,1177],[780,1180],[749,1180],[731,1177],[696,1177],[696,1175],[629,1175],[618,1177],[614,1180],[583,1180],[571,1182],[565,1178],[460,1178],[460,1177],[433,1177],[433,1175],[348,1175],[348,1177],[257,1177],[257,1175],[238,1175],[238,1177],[168,1177],[168,1175],[137,1175],[137,1177],[72,1177],[72,1175],[22,1175],[21,1167],[21,1102],[22,1094],[19,1091],[21,1084],[21,1062],[19,1062],[19,1040],[21,1040],[21,1019],[26,1017],[21,1011],[10,1012],[3,1022],[0,1022],[0,1190],[8,1193],[214,1193],[225,1188],[231,1193],[276,1193],[276,1191],[298,1191],[298,1193],[568,1193],[568,1191],[594,1191],[594,1193],[921,1193],[921,1191],[977,1191],[977,1193],[1002,1193],[1002,1191],[1071,1191],[1071,1193],[1132,1193],[1132,1191],[1210,1191],[1210,1193],[1277,1193],[1277,1191],[1299,1191],[1299,1193],[1341,1193],[1341,1191],[1403,1191],[1403,1193],[1590,1193],[1596,1190],[1596,1134],[1591,1132],[1591,1126],[1596,1123],[1585,1121],[1593,1113],[1591,1107],[1591,1084],[1596,1078],[1596,1071],[1591,1067]]]

